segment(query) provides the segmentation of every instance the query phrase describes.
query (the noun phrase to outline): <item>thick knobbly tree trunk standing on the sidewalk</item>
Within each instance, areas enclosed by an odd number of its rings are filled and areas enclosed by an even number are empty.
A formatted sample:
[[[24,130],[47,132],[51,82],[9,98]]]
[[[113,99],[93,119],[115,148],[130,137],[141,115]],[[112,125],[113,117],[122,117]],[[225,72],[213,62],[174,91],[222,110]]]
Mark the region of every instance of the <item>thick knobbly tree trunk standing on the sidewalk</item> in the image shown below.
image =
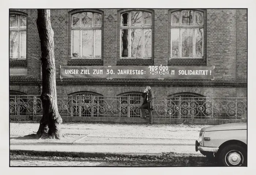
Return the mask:
[[[57,106],[54,42],[49,9],[37,10],[37,29],[41,43],[42,94],[40,98],[43,106],[43,117],[37,136],[61,139],[62,118]]]

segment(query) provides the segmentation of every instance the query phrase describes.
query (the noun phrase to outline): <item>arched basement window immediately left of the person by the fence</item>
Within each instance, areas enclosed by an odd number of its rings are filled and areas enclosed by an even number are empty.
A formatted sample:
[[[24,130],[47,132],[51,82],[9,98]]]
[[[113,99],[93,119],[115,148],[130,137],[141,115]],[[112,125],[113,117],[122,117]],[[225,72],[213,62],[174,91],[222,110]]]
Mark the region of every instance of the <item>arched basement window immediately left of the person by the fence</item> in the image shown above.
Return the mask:
[[[142,103],[142,93],[129,92],[119,94],[119,116],[120,117],[140,117],[140,105]]]

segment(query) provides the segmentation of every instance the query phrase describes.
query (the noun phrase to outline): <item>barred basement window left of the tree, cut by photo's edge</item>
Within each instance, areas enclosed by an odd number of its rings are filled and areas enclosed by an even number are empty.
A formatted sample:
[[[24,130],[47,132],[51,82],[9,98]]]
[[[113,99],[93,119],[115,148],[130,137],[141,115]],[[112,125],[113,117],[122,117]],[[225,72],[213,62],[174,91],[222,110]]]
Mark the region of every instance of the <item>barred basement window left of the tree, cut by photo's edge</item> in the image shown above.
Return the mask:
[[[10,115],[26,115],[27,96],[25,93],[10,91]]]

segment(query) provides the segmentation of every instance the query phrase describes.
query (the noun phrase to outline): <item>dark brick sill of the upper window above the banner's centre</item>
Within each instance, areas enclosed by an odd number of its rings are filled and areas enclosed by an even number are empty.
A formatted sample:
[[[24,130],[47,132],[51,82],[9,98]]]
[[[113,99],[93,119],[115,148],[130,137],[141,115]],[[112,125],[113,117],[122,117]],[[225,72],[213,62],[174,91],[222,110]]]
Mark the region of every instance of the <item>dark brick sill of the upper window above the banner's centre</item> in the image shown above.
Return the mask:
[[[151,59],[141,59],[141,58],[120,58],[116,65],[135,65],[135,66],[148,66],[154,65],[154,60]]]

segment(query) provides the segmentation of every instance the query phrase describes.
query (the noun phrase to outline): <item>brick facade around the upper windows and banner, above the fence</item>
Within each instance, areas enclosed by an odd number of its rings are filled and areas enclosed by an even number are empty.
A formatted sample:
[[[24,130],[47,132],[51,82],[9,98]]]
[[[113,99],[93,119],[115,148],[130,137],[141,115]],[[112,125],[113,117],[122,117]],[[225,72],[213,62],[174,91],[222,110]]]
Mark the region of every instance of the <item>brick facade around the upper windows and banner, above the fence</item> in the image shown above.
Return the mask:
[[[75,9],[76,11],[77,9]],[[78,9],[79,10],[79,9]],[[152,61],[132,60],[128,65],[167,65],[169,48],[169,9],[147,9],[153,12]],[[39,37],[36,26],[36,9],[16,9],[27,13],[27,62],[28,75],[22,78],[10,77],[10,90],[16,86],[34,87],[38,90],[41,79],[40,61],[30,56],[40,54]],[[207,57],[204,65],[215,66],[215,80],[155,80],[155,79],[60,79],[60,65],[127,65],[120,62],[120,36],[118,16],[122,9],[95,9],[103,14],[102,59],[81,61],[71,59],[71,13],[72,9],[51,9],[51,24],[54,31],[54,55],[58,95],[66,95],[83,89],[104,96],[124,92],[141,92],[146,85],[153,86],[157,96],[180,92],[193,92],[207,97],[246,97],[247,83],[247,16],[245,9],[207,9]],[[38,56],[35,56],[39,58]],[[176,65],[200,65],[201,60],[192,63],[177,60]],[[34,79],[31,79],[31,78]],[[40,89],[40,88],[39,88]],[[27,92],[30,92],[27,91]],[[33,94],[35,93],[32,91]]]

